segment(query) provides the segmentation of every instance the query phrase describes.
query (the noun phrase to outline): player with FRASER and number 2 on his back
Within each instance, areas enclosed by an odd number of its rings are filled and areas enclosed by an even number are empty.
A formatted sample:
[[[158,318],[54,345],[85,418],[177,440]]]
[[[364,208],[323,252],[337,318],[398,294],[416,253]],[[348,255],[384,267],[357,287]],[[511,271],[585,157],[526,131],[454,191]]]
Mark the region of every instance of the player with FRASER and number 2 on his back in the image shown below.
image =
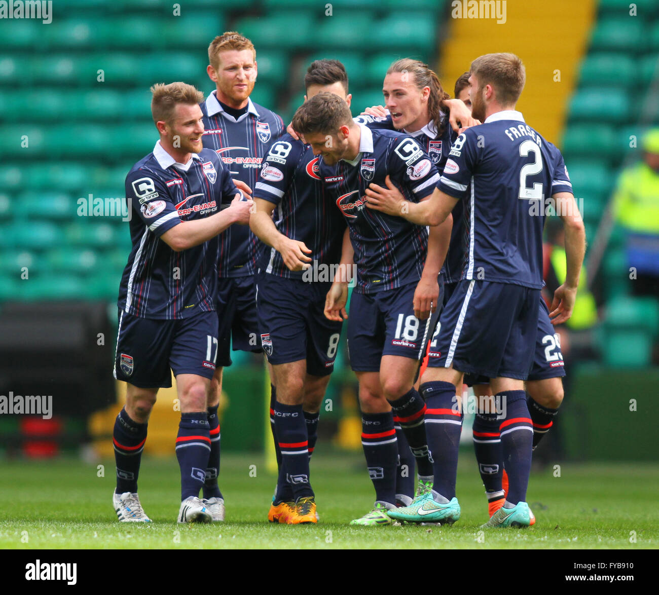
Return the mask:
[[[410,507],[389,511],[394,519],[439,523],[459,519],[455,393],[462,373],[471,372],[490,378],[509,474],[506,499],[487,526],[530,524],[525,497],[533,429],[524,380],[538,329],[545,197],[559,203],[566,235],[567,279],[554,294],[550,314],[556,324],[571,314],[585,233],[558,149],[514,109],[524,81],[523,65],[515,55],[476,59],[469,78],[473,117],[484,123],[465,130],[451,147],[440,194],[419,204],[389,201],[385,196],[368,199],[370,208],[398,213],[419,225],[441,223],[458,200],[465,200],[469,233],[466,266],[442,312],[420,387],[426,400],[428,443],[431,451],[443,456],[434,457],[432,492]]]

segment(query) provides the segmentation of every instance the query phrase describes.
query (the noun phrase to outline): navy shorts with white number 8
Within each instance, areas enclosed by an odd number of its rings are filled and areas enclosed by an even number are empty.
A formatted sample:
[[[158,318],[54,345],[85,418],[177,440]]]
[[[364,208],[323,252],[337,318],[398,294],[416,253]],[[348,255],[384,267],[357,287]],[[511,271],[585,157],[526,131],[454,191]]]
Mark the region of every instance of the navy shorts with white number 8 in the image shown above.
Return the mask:
[[[328,320],[323,312],[331,283],[260,271],[256,286],[260,341],[268,361],[276,366],[306,360],[308,374],[331,374],[343,325]]]

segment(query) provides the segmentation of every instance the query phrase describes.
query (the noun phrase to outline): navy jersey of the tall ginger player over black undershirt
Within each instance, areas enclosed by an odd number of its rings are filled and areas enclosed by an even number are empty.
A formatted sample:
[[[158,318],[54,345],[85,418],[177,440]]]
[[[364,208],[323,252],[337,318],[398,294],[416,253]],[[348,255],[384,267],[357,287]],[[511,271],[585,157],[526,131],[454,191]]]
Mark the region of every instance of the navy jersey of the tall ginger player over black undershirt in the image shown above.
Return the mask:
[[[251,99],[248,99],[247,112],[236,120],[224,111],[215,91],[200,103],[200,107],[204,114],[204,147],[217,152],[231,175],[253,190],[263,157],[272,143],[286,132],[283,120]],[[247,225],[229,227],[220,238],[219,277],[253,275],[262,246]]]

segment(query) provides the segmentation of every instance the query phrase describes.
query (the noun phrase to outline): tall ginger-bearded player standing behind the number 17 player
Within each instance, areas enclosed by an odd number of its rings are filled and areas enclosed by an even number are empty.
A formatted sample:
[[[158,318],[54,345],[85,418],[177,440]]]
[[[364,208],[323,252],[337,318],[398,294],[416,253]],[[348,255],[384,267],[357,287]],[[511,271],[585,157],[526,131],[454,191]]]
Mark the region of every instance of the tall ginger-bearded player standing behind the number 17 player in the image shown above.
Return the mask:
[[[241,190],[254,188],[261,162],[285,131],[281,118],[250,99],[256,83],[256,50],[236,32],[217,36],[208,46],[208,76],[215,90],[200,103],[204,115],[204,146],[215,150]],[[221,235],[217,258],[219,313],[217,368],[211,383],[208,420],[211,455],[206,468],[204,499],[215,521],[224,520],[224,499],[217,486],[220,434],[217,406],[222,370],[231,366],[233,351],[261,351],[256,322],[256,258],[258,240],[248,227],[231,227]]]

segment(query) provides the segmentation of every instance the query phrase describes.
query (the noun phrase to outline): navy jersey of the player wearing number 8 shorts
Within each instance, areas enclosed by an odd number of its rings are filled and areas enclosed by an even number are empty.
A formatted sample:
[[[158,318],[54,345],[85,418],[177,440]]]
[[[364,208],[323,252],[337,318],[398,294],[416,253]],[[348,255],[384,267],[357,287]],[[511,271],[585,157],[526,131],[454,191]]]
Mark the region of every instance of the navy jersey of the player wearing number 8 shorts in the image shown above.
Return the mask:
[[[316,264],[336,264],[341,259],[345,221],[341,212],[325,197],[318,175],[318,159],[310,145],[284,134],[265,157],[254,198],[277,205],[274,212],[279,232],[304,242]],[[304,271],[291,271],[274,248],[263,250],[259,268],[268,273],[302,279]],[[330,281],[332,279],[329,279]]]

